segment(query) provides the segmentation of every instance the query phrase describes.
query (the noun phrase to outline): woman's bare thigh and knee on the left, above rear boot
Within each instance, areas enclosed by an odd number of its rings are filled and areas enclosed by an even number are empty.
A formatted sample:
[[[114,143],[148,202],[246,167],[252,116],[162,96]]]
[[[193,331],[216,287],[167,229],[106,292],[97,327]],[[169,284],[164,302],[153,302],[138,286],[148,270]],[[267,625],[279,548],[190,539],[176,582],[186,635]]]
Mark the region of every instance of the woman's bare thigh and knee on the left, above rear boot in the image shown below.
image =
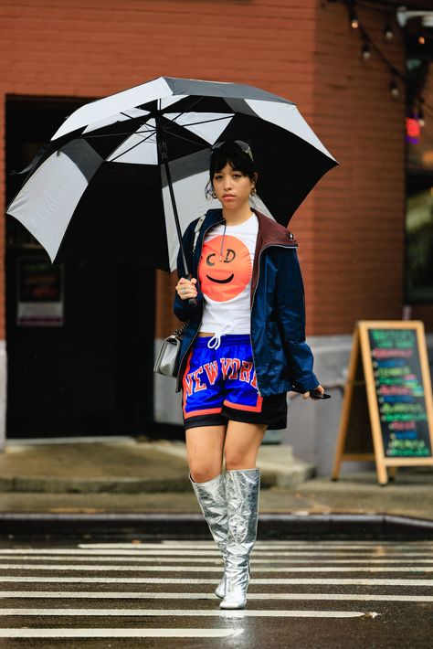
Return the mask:
[[[185,431],[189,471],[195,483],[206,483],[222,471],[226,426],[200,426]]]

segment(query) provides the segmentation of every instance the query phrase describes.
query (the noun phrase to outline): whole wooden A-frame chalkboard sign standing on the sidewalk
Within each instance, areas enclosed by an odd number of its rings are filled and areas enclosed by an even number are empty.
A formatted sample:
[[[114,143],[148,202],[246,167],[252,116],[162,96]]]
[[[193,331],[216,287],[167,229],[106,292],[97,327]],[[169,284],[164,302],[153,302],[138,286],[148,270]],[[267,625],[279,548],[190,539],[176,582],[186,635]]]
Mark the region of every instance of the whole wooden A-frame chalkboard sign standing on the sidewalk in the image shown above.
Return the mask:
[[[398,466],[433,466],[432,451],[433,405],[423,323],[358,322],[333,478],[342,462],[375,459],[378,482],[386,484],[387,467],[394,473]]]

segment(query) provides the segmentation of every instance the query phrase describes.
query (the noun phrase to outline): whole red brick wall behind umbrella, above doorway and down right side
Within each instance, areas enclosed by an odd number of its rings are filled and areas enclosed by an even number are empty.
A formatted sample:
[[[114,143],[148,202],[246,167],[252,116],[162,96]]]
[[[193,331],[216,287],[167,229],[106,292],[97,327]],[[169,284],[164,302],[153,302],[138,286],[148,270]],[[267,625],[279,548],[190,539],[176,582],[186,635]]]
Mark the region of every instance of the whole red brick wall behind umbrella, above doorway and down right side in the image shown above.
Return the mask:
[[[383,17],[360,14],[381,41]],[[359,318],[400,317],[404,93],[392,100],[385,66],[375,57],[360,61],[342,5],[3,0],[0,29],[2,116],[6,94],[98,97],[161,75],[244,82],[295,101],[342,165],[290,223],[300,242],[307,332],[350,333]],[[383,47],[404,69],[401,37]],[[5,186],[3,165],[4,155]],[[157,335],[175,322],[173,286],[158,273]]]

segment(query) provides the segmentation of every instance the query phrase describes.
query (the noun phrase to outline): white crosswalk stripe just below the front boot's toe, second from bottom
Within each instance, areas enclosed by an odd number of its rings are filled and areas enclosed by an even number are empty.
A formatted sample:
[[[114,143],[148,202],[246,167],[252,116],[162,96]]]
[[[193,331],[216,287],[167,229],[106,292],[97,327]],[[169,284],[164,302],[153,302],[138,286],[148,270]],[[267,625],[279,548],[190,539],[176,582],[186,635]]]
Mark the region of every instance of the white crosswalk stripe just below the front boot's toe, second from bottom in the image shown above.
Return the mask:
[[[374,615],[375,613],[369,613]],[[376,613],[377,614],[377,613]],[[364,612],[359,611],[255,611],[247,609],[243,611],[222,611],[221,609],[0,609],[0,615],[16,617],[20,615],[63,617],[63,616],[85,616],[85,617],[331,617],[350,618],[364,617]]]

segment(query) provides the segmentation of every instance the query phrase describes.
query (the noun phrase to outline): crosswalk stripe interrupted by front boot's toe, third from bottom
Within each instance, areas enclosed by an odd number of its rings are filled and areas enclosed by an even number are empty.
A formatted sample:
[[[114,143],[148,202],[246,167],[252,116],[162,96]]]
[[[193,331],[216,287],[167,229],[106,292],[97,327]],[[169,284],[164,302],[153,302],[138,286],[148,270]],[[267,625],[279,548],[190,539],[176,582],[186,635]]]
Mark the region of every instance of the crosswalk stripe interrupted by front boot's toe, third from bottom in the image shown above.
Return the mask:
[[[86,592],[65,590],[1,590],[1,599],[52,600],[211,600],[213,592]],[[288,601],[433,601],[433,595],[372,595],[370,593],[251,592],[248,600]]]

